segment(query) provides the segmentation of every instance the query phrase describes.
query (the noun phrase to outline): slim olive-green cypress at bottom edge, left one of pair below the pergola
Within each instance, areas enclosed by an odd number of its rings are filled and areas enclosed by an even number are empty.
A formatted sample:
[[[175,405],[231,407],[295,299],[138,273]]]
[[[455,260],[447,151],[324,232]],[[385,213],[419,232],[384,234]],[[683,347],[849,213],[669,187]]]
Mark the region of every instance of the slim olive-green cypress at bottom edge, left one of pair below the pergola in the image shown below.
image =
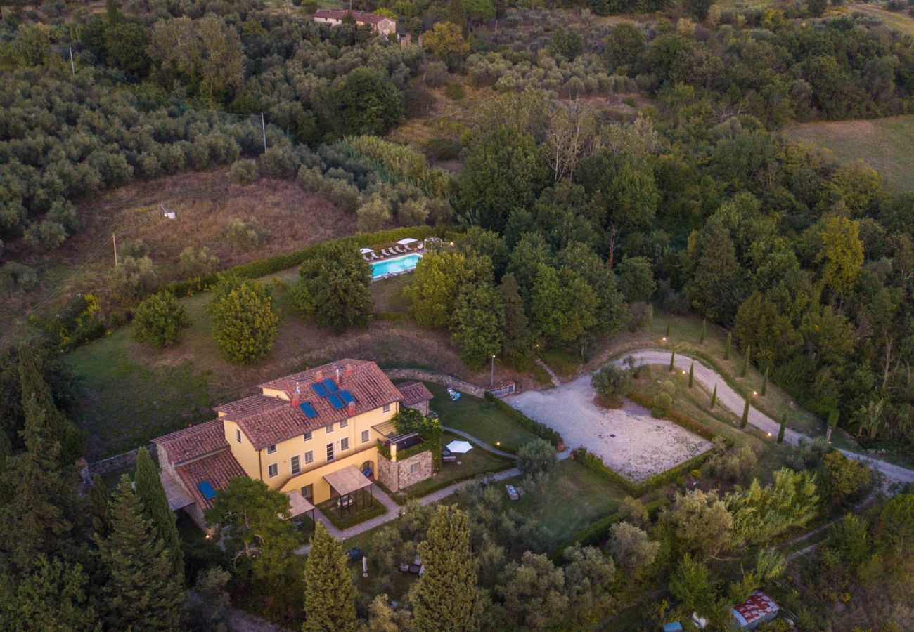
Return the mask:
[[[311,552],[304,563],[303,632],[354,632],[356,587],[345,565],[345,554],[320,522],[314,524]]]

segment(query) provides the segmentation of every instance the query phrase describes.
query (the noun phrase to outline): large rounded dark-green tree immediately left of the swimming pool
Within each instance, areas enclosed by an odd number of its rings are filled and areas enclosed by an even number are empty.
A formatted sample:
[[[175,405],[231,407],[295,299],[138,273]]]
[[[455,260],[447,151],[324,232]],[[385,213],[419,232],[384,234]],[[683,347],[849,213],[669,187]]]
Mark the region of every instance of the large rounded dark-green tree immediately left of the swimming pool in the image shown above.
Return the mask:
[[[305,260],[298,273],[295,307],[313,317],[318,327],[335,333],[367,327],[375,307],[371,267],[355,248],[330,243],[319,257]]]

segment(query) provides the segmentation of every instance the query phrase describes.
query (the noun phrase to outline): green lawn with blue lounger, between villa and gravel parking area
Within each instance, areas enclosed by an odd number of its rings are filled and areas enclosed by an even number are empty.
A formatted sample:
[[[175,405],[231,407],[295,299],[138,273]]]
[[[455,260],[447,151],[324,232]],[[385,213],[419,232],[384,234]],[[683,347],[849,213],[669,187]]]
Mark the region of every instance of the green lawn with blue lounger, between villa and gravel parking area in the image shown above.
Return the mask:
[[[517,448],[537,438],[484,399],[463,394],[456,402],[452,402],[444,386],[430,383],[425,385],[435,395],[431,400],[431,409],[438,413],[441,424],[446,427],[461,430],[506,452],[516,452]]]

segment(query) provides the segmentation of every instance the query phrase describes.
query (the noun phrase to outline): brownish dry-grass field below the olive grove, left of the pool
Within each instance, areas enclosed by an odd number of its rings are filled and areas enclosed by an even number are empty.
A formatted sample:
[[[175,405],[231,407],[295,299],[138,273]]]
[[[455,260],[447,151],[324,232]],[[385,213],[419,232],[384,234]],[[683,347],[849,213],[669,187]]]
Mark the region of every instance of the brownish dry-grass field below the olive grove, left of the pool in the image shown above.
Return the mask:
[[[175,211],[166,219],[160,204]],[[356,232],[356,217],[295,181],[260,178],[253,184],[228,181],[228,167],[139,181],[103,192],[77,205],[82,228],[60,248],[36,252],[21,240],[4,245],[4,257],[37,269],[37,287],[4,297],[0,327],[6,337],[21,335],[21,322],[31,311],[51,311],[78,292],[94,292],[106,300],[108,275],[114,267],[112,234],[121,258],[133,251],[152,258],[160,280],[182,276],[178,260],[184,248],[209,249],[218,269],[269,257]],[[256,220],[265,237],[253,249],[227,243],[232,220]]]

